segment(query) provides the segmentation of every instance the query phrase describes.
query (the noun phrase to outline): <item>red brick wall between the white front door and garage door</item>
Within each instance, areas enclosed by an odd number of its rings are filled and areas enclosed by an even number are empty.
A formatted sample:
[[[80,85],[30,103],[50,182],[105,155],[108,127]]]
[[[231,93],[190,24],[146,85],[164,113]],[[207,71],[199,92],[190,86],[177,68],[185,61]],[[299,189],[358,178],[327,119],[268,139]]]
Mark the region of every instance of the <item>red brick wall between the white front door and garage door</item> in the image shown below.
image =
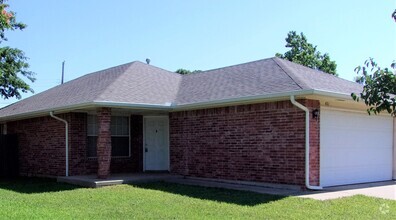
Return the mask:
[[[305,113],[290,101],[173,112],[171,172],[304,185],[304,138]]]

